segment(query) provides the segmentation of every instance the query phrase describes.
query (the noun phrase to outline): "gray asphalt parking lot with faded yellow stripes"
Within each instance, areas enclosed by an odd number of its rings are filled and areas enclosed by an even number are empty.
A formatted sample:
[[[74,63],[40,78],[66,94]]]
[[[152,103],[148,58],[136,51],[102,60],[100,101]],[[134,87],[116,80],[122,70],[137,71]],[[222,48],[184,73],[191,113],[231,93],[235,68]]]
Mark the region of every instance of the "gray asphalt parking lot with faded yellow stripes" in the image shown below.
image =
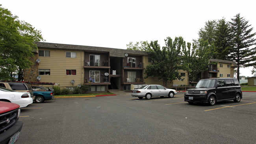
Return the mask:
[[[21,109],[17,144],[255,144],[256,93],[239,103],[188,104],[173,98],[56,98]]]

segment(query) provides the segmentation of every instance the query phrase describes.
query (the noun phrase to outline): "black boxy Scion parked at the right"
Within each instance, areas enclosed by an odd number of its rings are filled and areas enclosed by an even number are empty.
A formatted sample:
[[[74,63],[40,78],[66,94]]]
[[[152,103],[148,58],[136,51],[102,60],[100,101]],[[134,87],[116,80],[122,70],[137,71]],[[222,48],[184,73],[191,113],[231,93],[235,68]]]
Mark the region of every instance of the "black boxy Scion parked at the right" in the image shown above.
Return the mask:
[[[184,101],[189,104],[208,103],[211,106],[218,101],[234,100],[240,102],[242,90],[236,78],[210,78],[199,80],[195,88],[187,89]]]

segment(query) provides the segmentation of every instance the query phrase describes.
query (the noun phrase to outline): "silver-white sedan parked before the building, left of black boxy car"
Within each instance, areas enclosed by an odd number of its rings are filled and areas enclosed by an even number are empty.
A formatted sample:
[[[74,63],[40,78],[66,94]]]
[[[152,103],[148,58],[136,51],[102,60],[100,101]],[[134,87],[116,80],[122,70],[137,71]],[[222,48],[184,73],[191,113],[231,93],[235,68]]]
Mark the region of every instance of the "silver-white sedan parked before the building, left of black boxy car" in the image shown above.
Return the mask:
[[[167,89],[161,85],[145,85],[139,89],[132,90],[132,97],[138,97],[139,99],[145,97],[147,100],[149,100],[151,97],[168,96],[169,98],[172,98],[176,94],[176,90]]]

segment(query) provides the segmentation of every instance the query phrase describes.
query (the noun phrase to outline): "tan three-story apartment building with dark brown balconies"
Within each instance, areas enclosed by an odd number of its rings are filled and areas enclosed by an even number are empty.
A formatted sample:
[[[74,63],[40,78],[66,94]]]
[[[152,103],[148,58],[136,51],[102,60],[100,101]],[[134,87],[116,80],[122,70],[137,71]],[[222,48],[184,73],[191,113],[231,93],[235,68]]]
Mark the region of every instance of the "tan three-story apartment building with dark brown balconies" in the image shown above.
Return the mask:
[[[38,51],[34,63],[24,71],[24,81],[52,82],[60,87],[91,85],[90,91],[108,89],[130,90],[143,84],[160,84],[157,77],[145,79],[150,58],[145,51],[108,47],[79,46],[36,42]],[[234,77],[235,62],[210,59],[215,65],[189,82],[186,71],[180,70],[183,81],[174,80],[169,86],[189,86],[204,78]]]

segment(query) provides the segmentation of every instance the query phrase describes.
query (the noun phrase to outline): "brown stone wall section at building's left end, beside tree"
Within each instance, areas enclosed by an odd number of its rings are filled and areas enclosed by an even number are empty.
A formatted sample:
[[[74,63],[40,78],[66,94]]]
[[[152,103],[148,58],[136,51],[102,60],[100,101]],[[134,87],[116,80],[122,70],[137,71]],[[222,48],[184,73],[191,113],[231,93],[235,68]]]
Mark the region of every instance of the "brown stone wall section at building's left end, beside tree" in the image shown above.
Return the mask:
[[[37,80],[38,63],[36,62],[36,60],[38,59],[38,54],[35,54],[35,57],[32,57],[30,59],[34,64],[30,66],[30,68],[24,70],[24,81],[39,82],[39,80]]]

